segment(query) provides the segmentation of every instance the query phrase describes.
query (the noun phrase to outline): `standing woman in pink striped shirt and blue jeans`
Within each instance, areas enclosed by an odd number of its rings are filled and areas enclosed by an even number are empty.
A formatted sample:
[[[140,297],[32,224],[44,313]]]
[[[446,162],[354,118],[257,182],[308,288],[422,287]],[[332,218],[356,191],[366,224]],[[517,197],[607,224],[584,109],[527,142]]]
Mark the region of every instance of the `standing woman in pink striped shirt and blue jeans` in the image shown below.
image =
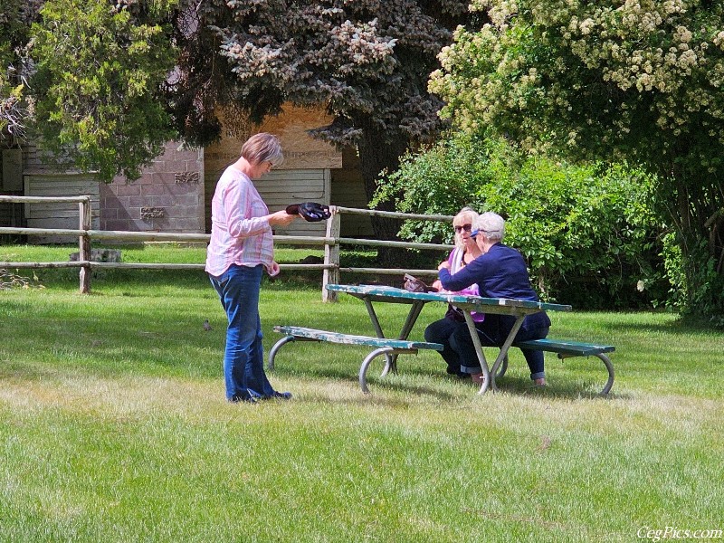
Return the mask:
[[[271,227],[290,224],[299,215],[270,214],[252,183],[282,160],[278,138],[255,134],[243,144],[241,157],[224,170],[212,200],[205,270],[229,319],[224,381],[230,402],[291,398],[289,392],[276,392],[264,373],[259,291],[263,271],[279,273]]]

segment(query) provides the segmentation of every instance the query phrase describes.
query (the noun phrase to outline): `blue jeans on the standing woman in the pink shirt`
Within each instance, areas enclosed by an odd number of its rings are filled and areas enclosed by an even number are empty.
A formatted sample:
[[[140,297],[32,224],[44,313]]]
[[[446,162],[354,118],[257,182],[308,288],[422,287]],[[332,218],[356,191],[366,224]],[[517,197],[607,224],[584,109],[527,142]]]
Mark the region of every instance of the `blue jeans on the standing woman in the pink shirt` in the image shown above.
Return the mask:
[[[274,395],[264,373],[259,291],[263,266],[232,264],[220,277],[209,275],[219,294],[229,326],[224,348],[226,399],[253,402]]]

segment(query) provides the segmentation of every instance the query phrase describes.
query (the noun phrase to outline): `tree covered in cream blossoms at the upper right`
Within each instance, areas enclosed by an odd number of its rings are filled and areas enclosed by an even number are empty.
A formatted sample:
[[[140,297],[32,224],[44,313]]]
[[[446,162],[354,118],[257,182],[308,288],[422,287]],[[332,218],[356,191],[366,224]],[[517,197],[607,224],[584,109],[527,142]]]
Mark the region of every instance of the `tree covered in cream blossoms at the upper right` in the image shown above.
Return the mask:
[[[628,159],[658,178],[684,301],[724,314],[724,4],[476,0],[430,89],[443,116],[531,152]]]

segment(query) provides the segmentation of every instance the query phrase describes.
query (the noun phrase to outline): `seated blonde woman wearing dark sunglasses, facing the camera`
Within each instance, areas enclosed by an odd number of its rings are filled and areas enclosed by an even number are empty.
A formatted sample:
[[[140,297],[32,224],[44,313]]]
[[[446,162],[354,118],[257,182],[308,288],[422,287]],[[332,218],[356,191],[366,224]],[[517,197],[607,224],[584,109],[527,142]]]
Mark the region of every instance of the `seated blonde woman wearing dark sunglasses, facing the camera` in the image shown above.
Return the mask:
[[[452,226],[455,229],[455,248],[450,253],[447,261],[450,264],[452,273],[462,270],[464,266],[478,258],[482,252],[477,243],[472,239],[472,224],[478,219],[478,214],[470,207],[463,207],[458,214],[452,218]],[[437,291],[445,291],[440,280],[433,282],[433,288]],[[456,293],[478,295],[478,285],[471,285]],[[472,313],[472,319],[481,322],[485,319],[484,313]],[[431,343],[440,343],[443,350],[440,355],[447,362],[447,373],[453,376],[468,377],[470,374],[463,373],[460,368],[460,359],[452,351],[450,345],[450,337],[452,333],[461,328],[467,330],[465,318],[462,311],[453,305],[449,305],[444,319],[435,320],[430,326],[424,330],[425,341]]]

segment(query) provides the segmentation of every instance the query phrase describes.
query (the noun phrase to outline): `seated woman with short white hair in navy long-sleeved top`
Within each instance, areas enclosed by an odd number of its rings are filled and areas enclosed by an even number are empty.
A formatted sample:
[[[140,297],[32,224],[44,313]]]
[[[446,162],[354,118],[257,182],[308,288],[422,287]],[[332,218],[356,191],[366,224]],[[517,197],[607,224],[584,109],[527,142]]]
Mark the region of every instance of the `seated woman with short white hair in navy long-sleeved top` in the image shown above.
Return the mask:
[[[499,214],[481,214],[472,235],[481,249],[481,256],[457,273],[450,273],[450,263],[438,266],[440,282],[446,291],[462,291],[473,283],[478,284],[484,298],[510,298],[538,301],[538,294],[530,284],[528,268],[523,256],[500,243],[505,235],[505,221]],[[486,314],[482,322],[475,323],[483,347],[502,347],[515,323],[512,315]],[[450,348],[460,358],[461,370],[481,383],[482,368],[467,326],[461,323],[450,338]],[[545,311],[528,315],[516,335],[517,341],[542,339],[548,336],[550,319]],[[536,385],[546,384],[543,352],[521,349],[530,368],[530,378]]]

